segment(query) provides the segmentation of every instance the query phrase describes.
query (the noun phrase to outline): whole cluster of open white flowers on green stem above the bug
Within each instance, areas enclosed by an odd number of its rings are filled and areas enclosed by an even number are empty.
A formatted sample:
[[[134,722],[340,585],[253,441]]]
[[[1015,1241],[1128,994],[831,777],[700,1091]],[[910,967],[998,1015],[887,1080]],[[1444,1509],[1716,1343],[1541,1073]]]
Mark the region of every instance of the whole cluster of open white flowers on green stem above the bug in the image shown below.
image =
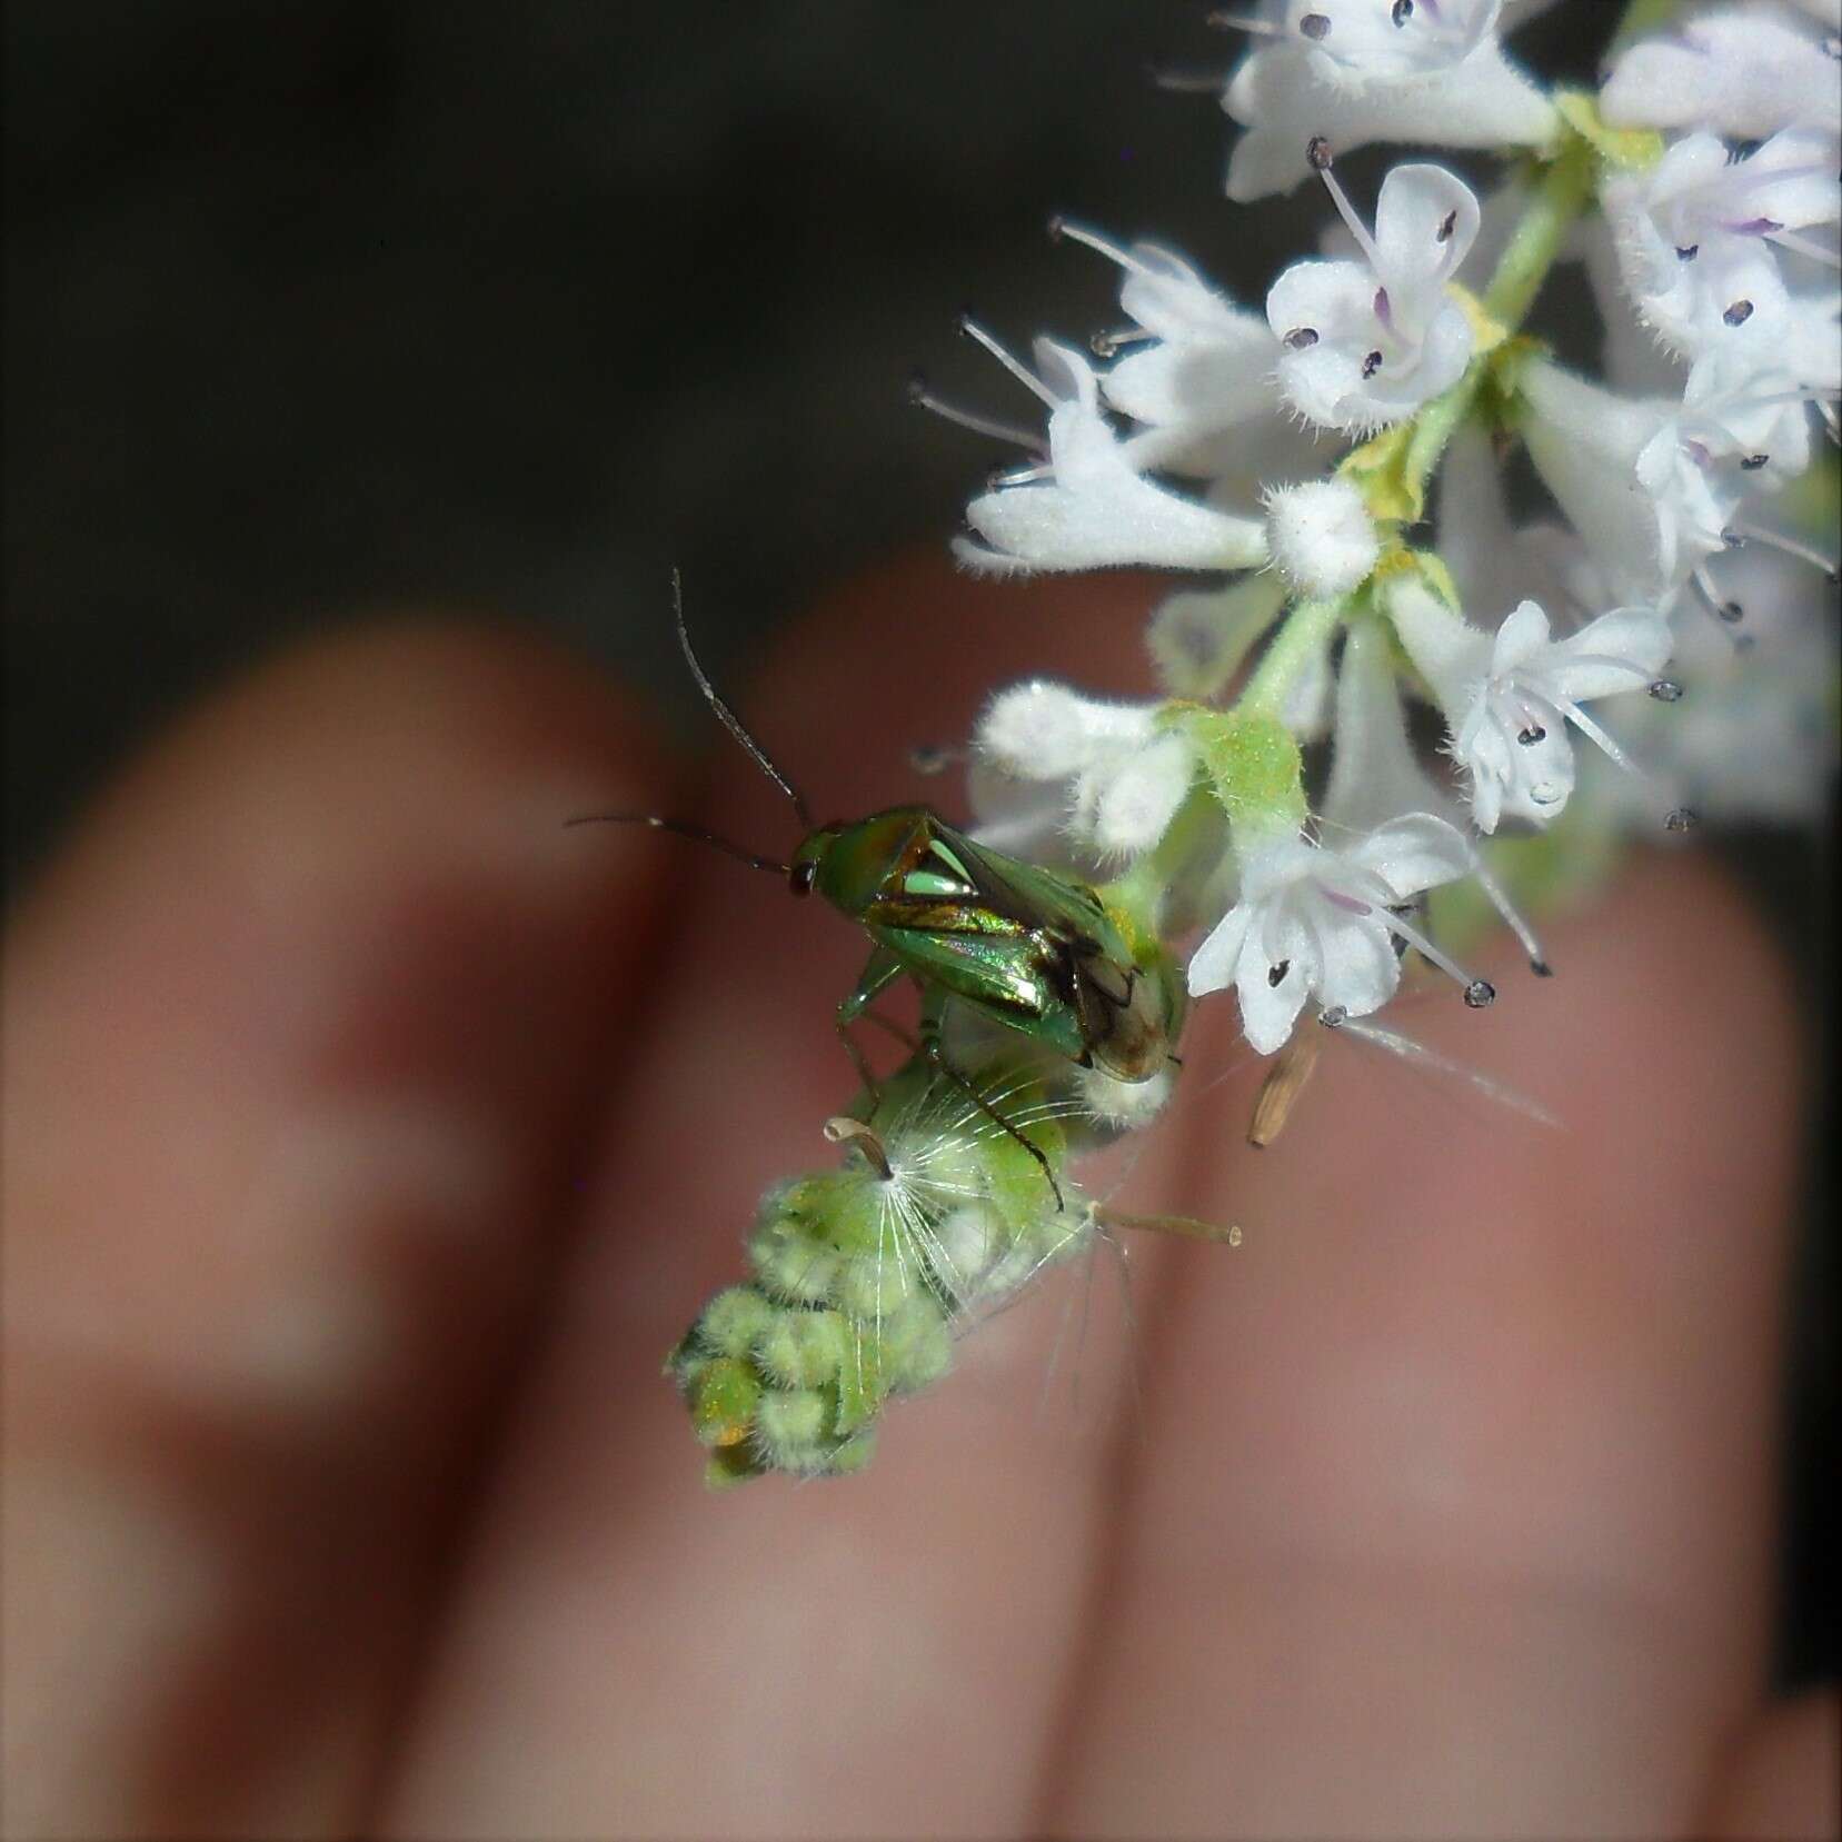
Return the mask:
[[[1168,702],[993,700],[980,836],[1201,917],[1190,989],[1232,985],[1262,1052],[1308,1004],[1382,1008],[1409,949],[1486,1004],[1428,932],[1442,884],[1477,879],[1545,973],[1490,834],[1577,796],[1601,823],[1682,829],[1689,798],[1798,818],[1833,774],[1833,536],[1807,483],[1833,483],[1842,389],[1842,0],[1647,4],[1652,35],[1614,37],[1597,96],[1505,53],[1540,9],[1254,0],[1229,20],[1249,35],[1229,197],[1313,182],[1343,252],[1291,263],[1256,311],[1168,249],[1059,225],[1116,263],[1127,324],[1096,357],[1043,339],[1033,367],[967,328],[1048,431],[973,499],[960,558],[1207,577],[1151,624]],[[1444,166],[1396,164],[1370,219],[1334,171],[1365,144],[1510,153],[1525,177],[1481,206]],[[1529,319],[1564,260],[1595,293],[1603,378]],[[1553,501],[1521,527],[1516,444]],[[1614,702],[1638,713],[1623,740]],[[1424,759],[1413,704],[1444,729]],[[1575,737],[1625,772],[1582,775]]]

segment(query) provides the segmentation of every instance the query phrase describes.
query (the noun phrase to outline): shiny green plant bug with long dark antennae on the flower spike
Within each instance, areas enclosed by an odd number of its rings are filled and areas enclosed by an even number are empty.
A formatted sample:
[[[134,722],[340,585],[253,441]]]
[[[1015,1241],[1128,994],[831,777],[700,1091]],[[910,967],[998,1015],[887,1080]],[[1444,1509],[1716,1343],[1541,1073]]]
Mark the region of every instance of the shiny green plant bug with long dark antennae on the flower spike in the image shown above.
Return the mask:
[[[941,1050],[947,1006],[1013,1030],[1081,1068],[1116,1081],[1148,1081],[1175,1061],[1184,991],[1162,943],[1085,882],[993,851],[925,805],[890,807],[855,823],[814,825],[805,796],[717,693],[691,647],[683,589],[672,571],[678,643],[704,702],[763,774],[792,801],[805,836],[792,858],[759,857],[700,825],[652,812],[591,812],[571,825],[639,823],[713,844],[755,869],[787,879],[794,895],[818,893],[869,936],[869,960],[838,1004],[836,1030],[871,1100],[877,1081],[849,1035],[857,1020],[906,1041],[991,1114],[1041,1164],[1043,1153],[997,1113]],[[919,1041],[871,1006],[901,978],[921,989]]]

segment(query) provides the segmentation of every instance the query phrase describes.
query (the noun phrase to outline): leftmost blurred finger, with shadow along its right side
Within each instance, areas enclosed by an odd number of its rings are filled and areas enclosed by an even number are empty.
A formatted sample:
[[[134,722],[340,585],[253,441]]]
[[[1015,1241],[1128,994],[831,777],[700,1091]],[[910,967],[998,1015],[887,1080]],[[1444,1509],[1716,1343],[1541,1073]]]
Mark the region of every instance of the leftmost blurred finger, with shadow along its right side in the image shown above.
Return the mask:
[[[632,704],[431,623],[214,698],[6,963],[20,1835],[346,1833],[670,866]]]

